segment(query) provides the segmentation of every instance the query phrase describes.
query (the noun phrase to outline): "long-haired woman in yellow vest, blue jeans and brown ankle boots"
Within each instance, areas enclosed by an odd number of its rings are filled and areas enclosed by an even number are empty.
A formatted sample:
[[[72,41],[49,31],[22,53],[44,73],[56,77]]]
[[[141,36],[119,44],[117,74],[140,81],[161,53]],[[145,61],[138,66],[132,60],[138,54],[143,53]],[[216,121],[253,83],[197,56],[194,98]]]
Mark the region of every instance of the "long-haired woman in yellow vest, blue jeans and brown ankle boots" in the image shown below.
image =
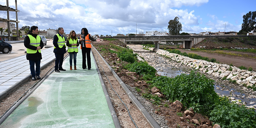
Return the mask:
[[[70,70],[72,70],[72,59],[74,58],[74,70],[77,70],[78,39],[74,30],[70,31],[66,46],[68,46]]]

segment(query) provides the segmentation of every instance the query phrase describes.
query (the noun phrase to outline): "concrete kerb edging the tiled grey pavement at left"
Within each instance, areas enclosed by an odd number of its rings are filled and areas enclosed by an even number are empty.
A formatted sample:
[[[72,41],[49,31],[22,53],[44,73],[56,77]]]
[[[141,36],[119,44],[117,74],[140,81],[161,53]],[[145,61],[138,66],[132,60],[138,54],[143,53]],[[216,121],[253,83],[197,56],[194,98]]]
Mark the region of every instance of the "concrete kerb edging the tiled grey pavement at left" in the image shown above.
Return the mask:
[[[44,65],[40,66],[40,70],[45,68],[49,63],[51,63],[52,61],[54,61],[55,59],[52,59],[51,61],[45,63]],[[7,94],[9,94],[10,92],[12,92],[14,89],[18,88],[21,84],[26,83],[30,78],[31,78],[31,74],[29,74],[28,76],[26,76],[25,78],[23,78],[22,80],[20,80],[19,82],[15,83],[12,87],[6,89],[5,91],[3,91],[0,94],[0,100],[4,99],[6,97]]]

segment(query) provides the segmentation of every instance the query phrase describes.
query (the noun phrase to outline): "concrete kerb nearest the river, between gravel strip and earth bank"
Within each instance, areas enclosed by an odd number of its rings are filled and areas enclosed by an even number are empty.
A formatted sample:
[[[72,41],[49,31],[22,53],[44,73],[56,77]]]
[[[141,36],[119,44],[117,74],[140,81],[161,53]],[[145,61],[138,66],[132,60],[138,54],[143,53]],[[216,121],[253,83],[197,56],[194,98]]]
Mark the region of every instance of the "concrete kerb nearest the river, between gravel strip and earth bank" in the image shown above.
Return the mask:
[[[92,46],[94,48],[94,46]],[[95,48],[94,48],[95,49]],[[105,64],[109,67],[110,71],[113,73],[116,80],[118,80],[119,84],[121,85],[124,92],[127,94],[129,99],[132,101],[132,103],[135,105],[135,107],[142,113],[148,124],[153,128],[160,128],[158,123],[152,118],[152,116],[146,111],[146,109],[143,107],[143,105],[138,101],[138,99],[132,94],[132,92],[127,88],[127,86],[124,84],[124,82],[118,77],[118,75],[115,73],[115,71],[110,67],[108,62],[105,61],[105,59],[100,55],[100,53],[95,49],[95,51],[99,54],[101,59],[105,62]]]

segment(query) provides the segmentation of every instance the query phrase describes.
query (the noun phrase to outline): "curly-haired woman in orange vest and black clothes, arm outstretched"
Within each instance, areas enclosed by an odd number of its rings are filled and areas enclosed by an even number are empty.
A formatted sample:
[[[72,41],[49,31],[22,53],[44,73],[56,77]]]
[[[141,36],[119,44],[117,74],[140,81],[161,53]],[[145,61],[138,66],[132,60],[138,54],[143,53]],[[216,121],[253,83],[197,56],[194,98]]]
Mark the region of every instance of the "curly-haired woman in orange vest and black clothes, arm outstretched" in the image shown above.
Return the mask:
[[[100,39],[94,39],[91,37],[91,35],[88,33],[88,30],[86,28],[82,28],[81,30],[81,36],[79,40],[79,44],[81,44],[82,49],[82,68],[86,69],[86,57],[87,57],[87,66],[88,70],[91,69],[91,41],[100,41]]]

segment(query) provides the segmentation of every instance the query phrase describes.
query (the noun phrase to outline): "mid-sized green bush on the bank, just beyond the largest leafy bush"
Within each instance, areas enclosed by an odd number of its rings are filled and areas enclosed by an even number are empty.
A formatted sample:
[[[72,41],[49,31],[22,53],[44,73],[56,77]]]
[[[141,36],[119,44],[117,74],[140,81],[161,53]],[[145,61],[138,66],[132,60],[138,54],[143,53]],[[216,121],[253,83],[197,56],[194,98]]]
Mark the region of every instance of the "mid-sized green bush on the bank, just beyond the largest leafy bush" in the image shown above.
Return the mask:
[[[136,72],[138,75],[152,75],[155,76],[156,69],[152,66],[148,65],[146,61],[144,62],[134,62],[131,64],[127,64],[125,66],[126,69],[132,72]]]

